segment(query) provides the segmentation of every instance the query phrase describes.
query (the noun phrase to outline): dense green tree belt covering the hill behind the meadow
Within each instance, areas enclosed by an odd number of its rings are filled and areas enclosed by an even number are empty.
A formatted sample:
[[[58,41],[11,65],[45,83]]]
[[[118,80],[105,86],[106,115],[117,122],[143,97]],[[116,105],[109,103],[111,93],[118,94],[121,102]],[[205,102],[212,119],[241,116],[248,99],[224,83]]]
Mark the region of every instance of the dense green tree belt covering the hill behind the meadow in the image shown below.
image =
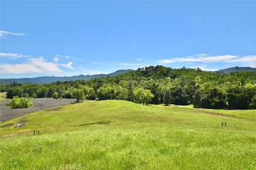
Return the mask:
[[[248,109],[256,105],[256,72],[206,72],[200,69],[171,69],[161,65],[139,68],[117,77],[50,84],[1,86],[7,98],[53,97],[78,101],[120,99],[140,104],[194,104],[198,108]],[[166,94],[167,93],[167,94]]]

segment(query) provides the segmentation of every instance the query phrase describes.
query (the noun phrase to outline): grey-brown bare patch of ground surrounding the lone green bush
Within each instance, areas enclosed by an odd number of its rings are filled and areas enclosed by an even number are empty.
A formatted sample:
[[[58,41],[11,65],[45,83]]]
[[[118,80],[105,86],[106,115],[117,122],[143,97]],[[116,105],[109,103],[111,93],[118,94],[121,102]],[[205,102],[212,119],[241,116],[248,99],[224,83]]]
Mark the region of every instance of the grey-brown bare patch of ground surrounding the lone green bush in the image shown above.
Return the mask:
[[[37,98],[37,99],[31,99],[31,102],[33,103],[33,106],[29,108],[15,108],[15,109],[9,109],[7,106],[5,106],[6,103],[10,102],[9,100],[1,100],[0,101],[0,120],[9,120],[14,117],[19,117],[22,115],[25,115],[27,113],[40,111],[43,109],[51,108],[51,107],[57,107],[61,105],[68,105],[71,103],[74,103],[75,99],[52,99],[52,98]],[[55,111],[58,111],[60,108],[52,108],[55,109]]]

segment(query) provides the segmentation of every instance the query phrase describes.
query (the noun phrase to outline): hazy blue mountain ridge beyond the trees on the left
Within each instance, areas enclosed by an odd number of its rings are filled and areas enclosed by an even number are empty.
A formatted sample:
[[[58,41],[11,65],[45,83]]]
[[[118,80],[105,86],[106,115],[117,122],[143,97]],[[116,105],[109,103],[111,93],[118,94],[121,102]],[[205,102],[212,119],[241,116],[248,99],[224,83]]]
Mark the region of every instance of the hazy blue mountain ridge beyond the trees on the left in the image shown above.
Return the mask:
[[[50,77],[50,76],[44,76],[44,77],[37,77],[37,78],[20,78],[20,79],[0,79],[0,83],[1,84],[9,84],[10,82],[18,82],[18,83],[36,83],[36,84],[45,84],[45,83],[52,83],[55,81],[75,81],[75,80],[88,80],[88,79],[92,79],[92,78],[106,78],[108,76],[110,77],[115,77],[118,74],[122,74],[122,73],[126,73],[126,72],[130,72],[130,71],[134,71],[131,69],[127,69],[127,70],[117,70],[113,73],[109,73],[109,74],[94,74],[94,75],[75,75],[75,76],[71,76],[71,77]]]

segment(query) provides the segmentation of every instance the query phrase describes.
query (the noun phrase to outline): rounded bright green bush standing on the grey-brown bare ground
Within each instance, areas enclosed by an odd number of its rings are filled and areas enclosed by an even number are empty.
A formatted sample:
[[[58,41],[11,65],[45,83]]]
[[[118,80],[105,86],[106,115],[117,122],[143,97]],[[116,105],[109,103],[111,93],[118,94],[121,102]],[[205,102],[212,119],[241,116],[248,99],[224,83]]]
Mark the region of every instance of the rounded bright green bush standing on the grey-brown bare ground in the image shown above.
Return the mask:
[[[27,108],[32,106],[29,98],[14,96],[10,103],[6,104],[6,106],[11,106],[12,108]]]

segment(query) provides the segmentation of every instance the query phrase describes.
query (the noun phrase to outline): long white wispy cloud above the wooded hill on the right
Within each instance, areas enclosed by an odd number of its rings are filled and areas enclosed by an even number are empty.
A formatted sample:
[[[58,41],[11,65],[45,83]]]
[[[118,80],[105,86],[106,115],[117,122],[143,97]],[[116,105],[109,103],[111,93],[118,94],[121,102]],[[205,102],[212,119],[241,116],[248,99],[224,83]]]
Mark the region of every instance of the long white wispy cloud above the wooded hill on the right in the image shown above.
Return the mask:
[[[159,60],[159,64],[167,64],[167,63],[182,63],[182,62],[189,62],[189,63],[246,63],[251,64],[251,62],[255,63],[256,55],[250,56],[242,56],[239,57],[237,55],[218,55],[218,56],[209,56],[206,54],[196,54],[195,56],[189,57],[176,57],[166,60]]]

